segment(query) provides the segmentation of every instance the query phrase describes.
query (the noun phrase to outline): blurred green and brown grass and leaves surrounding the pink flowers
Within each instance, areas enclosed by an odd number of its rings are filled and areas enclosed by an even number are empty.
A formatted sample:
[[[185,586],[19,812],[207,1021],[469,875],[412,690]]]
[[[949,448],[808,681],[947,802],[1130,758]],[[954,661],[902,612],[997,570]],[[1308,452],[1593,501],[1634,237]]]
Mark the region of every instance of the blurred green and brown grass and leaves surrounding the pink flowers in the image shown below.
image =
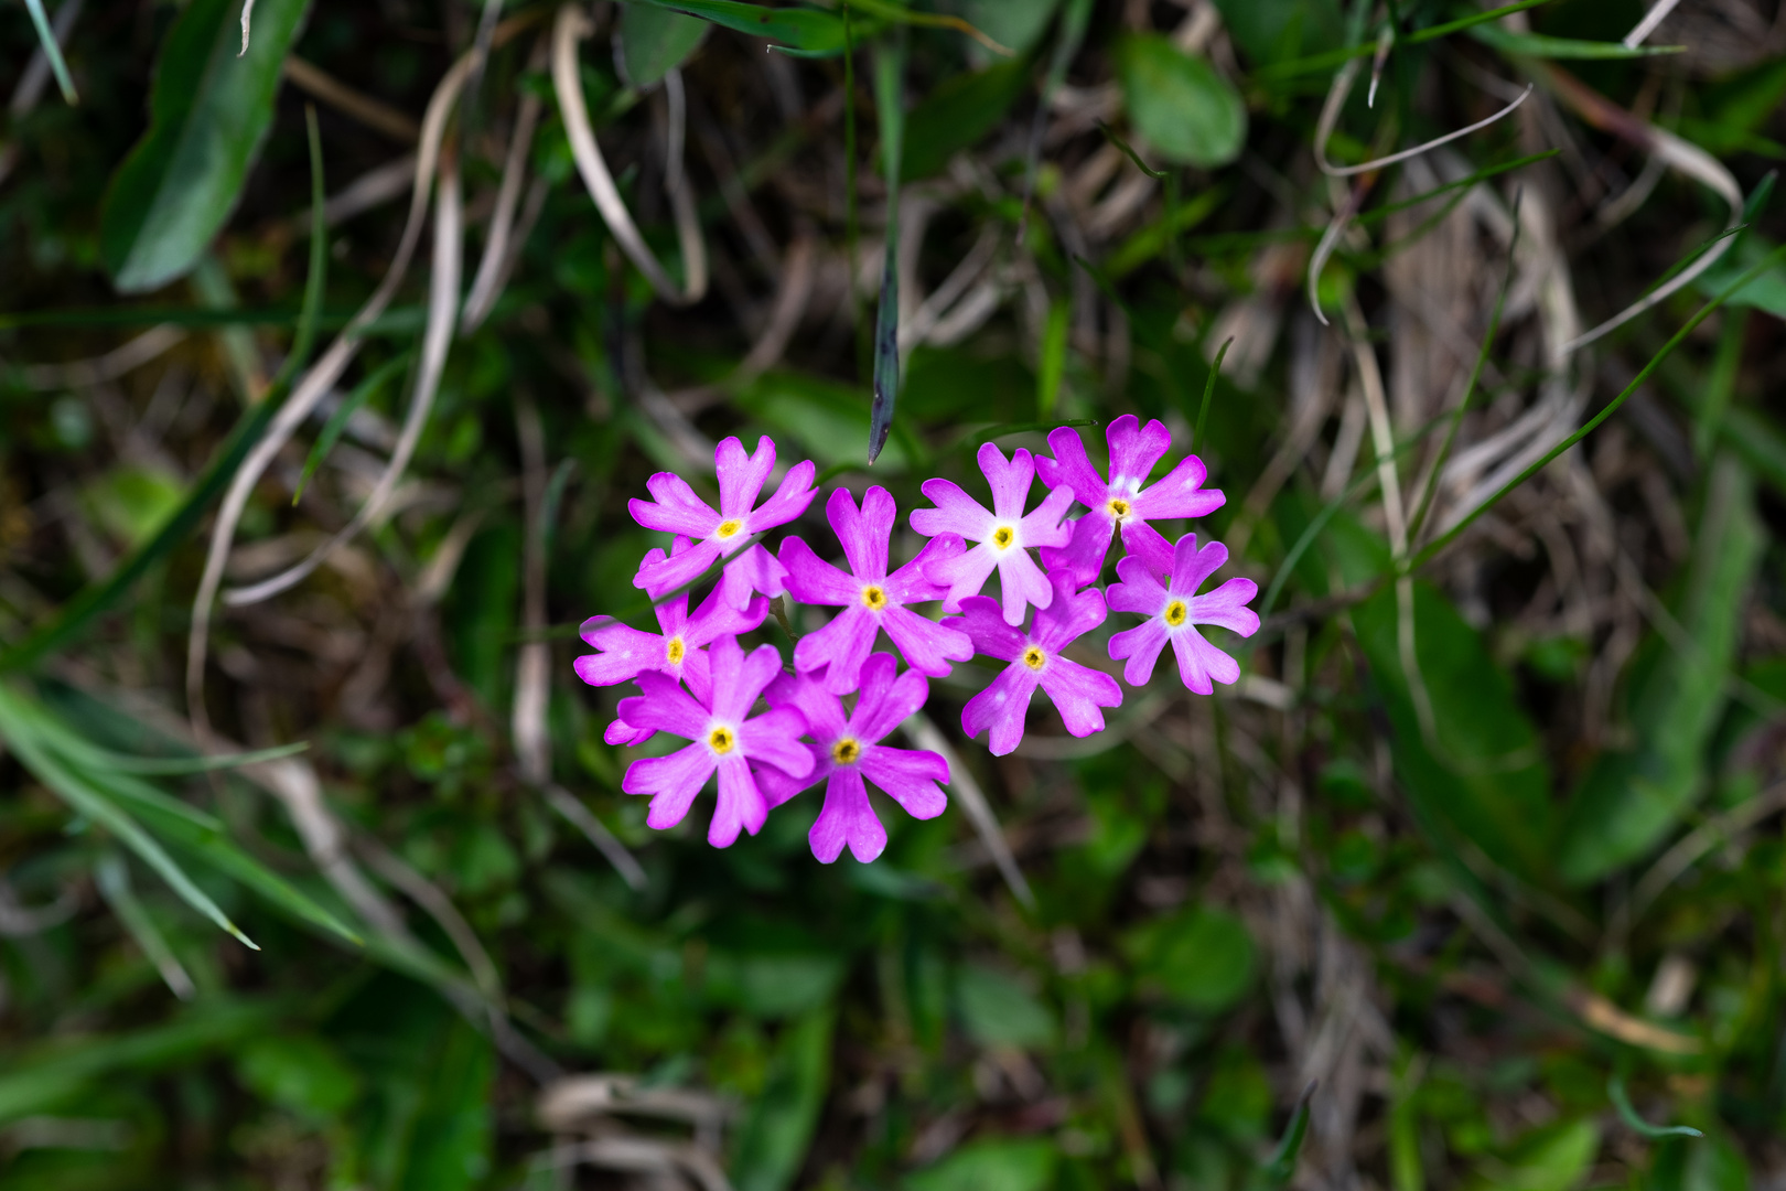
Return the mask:
[[[1786,1187],[1786,7],[1645,7],[0,9],[0,1187]],[[1122,412],[1239,684],[645,827],[650,471]]]

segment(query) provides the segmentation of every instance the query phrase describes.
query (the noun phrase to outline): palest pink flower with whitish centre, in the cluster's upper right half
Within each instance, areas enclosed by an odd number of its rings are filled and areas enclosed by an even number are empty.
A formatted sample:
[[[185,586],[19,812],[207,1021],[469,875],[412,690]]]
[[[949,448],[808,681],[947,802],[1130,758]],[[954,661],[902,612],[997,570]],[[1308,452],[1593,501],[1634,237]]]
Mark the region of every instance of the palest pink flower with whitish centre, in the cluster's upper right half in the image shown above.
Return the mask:
[[[1034,604],[1048,607],[1054,587],[1047,575],[1029,557],[1029,546],[1064,546],[1072,529],[1061,525],[1061,516],[1073,502],[1073,493],[1057,487],[1023,516],[1029,504],[1029,486],[1036,477],[1036,462],[1022,446],[1006,461],[1004,454],[986,443],[981,446],[981,471],[993,489],[993,511],[961,491],[950,480],[925,480],[923,495],[936,502],[934,509],[914,509],[911,527],[925,537],[959,534],[979,543],[966,554],[938,559],[929,566],[929,577],[948,587],[943,596],[945,612],[959,612],[966,596],[986,587],[986,577],[998,570],[1007,625],[1023,623],[1023,609]]]

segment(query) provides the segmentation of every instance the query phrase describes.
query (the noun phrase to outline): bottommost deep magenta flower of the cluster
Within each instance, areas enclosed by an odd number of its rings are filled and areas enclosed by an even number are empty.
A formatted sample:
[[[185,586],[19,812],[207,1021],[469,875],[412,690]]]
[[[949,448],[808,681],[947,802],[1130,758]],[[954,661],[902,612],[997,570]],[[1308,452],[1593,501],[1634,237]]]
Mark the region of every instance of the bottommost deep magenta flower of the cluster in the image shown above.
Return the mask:
[[[798,711],[813,739],[813,771],[788,777],[759,770],[757,780],[780,805],[825,779],[825,807],[807,834],[813,855],[830,864],[848,845],[850,855],[868,864],[888,846],[886,827],[868,804],[864,779],[884,789],[914,820],[934,820],[948,805],[938,782],[948,780],[948,762],[932,752],[889,748],[880,739],[923,707],[931,684],[907,670],[895,677],[891,654],[875,654],[861,666],[863,693],[843,716],[843,704],[813,679],[779,679],[768,693],[772,707]]]

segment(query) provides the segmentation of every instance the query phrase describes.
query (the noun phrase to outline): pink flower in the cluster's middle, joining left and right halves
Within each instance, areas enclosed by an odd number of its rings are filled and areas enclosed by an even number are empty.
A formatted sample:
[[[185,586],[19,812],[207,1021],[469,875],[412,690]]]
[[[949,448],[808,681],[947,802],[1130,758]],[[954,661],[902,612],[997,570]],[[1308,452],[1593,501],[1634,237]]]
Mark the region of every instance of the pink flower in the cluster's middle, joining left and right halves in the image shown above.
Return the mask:
[[[809,632],[793,646],[793,668],[800,673],[823,670],[823,686],[832,695],[848,695],[859,684],[859,671],[875,636],[886,629],[906,664],[927,675],[947,675],[950,662],[973,657],[973,643],[964,634],[913,612],[907,604],[941,600],[943,584],[925,577],[925,568],[961,554],[961,537],[939,534],[918,557],[888,575],[888,541],[898,509],[884,487],[863,493],[863,509],[848,491],[838,489],[825,504],[830,529],[843,543],[850,573],[823,562],[798,537],[782,541],[780,561],[788,568],[788,593],[800,604],[843,605],[829,625]]]

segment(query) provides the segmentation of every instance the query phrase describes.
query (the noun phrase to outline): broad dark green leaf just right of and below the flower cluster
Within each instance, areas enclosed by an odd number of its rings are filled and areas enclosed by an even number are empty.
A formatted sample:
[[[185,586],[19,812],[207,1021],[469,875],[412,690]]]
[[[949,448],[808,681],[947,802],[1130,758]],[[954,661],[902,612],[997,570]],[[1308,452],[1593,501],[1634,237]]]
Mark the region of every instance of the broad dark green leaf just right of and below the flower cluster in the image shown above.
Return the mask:
[[[1331,527],[1356,525],[1340,516]],[[1352,612],[1395,732],[1395,773],[1416,821],[1448,848],[1470,846],[1525,879],[1545,870],[1550,837],[1550,773],[1538,732],[1506,671],[1457,609],[1415,584],[1415,657],[1432,705],[1425,739],[1402,670],[1395,589],[1386,586]]]

